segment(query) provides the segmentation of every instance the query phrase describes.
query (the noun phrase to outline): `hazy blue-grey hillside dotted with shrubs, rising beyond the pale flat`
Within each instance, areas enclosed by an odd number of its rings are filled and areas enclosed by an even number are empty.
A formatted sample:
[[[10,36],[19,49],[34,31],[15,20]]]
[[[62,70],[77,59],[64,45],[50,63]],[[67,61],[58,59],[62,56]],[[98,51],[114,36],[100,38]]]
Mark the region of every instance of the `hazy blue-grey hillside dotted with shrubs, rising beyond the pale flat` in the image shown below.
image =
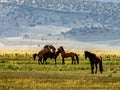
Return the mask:
[[[0,38],[95,43],[109,40],[112,45],[120,38],[119,18],[120,3],[88,0],[1,0]],[[2,40],[1,43],[9,45]]]

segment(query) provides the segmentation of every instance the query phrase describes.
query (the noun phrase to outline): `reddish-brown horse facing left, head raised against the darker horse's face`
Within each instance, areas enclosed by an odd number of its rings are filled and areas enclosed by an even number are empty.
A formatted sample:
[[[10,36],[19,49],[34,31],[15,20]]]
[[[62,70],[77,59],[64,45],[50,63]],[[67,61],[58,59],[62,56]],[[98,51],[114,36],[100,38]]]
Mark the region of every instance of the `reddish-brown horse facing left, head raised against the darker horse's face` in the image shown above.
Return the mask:
[[[79,64],[79,58],[78,58],[78,55],[76,53],[73,53],[73,52],[66,53],[62,46],[60,46],[58,48],[58,51],[61,53],[61,56],[62,56],[62,64],[65,64],[64,58],[68,58],[68,57],[71,57],[72,64],[76,64],[75,58],[74,58],[74,57],[76,57],[77,64]]]

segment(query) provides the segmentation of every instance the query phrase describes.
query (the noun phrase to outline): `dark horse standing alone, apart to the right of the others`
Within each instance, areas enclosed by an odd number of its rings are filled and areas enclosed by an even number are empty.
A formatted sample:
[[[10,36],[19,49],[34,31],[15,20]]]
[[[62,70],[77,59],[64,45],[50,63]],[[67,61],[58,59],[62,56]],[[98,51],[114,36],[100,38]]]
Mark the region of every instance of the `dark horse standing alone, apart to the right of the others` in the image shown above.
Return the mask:
[[[95,73],[97,73],[97,64],[99,63],[99,70],[100,73],[102,74],[103,72],[103,65],[102,65],[102,57],[101,56],[96,56],[96,54],[84,51],[85,59],[89,58],[90,60],[90,65],[91,65],[91,73],[94,73],[94,65],[96,67]]]

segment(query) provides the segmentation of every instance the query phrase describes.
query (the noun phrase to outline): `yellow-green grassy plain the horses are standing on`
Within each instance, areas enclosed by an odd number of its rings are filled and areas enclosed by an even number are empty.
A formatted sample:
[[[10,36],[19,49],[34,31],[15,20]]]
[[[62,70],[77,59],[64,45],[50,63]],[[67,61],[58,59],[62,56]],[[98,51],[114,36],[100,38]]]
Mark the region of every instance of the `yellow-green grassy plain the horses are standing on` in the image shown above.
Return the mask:
[[[120,51],[91,51],[103,57],[103,73],[91,74],[90,62],[79,54],[79,64],[61,56],[38,65],[32,54],[37,50],[0,50],[0,90],[120,90]],[[70,52],[70,51],[68,51]]]

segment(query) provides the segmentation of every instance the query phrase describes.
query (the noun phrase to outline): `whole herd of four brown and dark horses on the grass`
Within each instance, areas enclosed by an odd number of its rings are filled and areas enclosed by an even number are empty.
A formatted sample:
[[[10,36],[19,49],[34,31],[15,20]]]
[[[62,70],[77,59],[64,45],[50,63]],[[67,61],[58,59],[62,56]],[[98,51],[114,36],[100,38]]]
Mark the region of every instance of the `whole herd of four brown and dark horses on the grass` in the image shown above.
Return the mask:
[[[40,50],[38,53],[33,54],[34,60],[36,59],[36,56],[38,56],[38,64],[44,64],[47,63],[46,60],[48,58],[54,59],[56,64],[56,59],[58,55],[61,54],[62,57],[62,64],[65,64],[65,58],[70,57],[72,60],[72,64],[79,64],[79,58],[78,55],[74,52],[65,52],[63,46],[60,46],[57,51],[56,48],[53,45],[45,45],[42,50]],[[90,65],[91,65],[91,73],[94,73],[94,66],[96,67],[95,73],[97,73],[97,64],[99,64],[99,70],[100,73],[103,72],[103,65],[102,65],[102,57],[97,56],[94,53],[91,53],[89,51],[84,51],[85,59],[89,58]]]

